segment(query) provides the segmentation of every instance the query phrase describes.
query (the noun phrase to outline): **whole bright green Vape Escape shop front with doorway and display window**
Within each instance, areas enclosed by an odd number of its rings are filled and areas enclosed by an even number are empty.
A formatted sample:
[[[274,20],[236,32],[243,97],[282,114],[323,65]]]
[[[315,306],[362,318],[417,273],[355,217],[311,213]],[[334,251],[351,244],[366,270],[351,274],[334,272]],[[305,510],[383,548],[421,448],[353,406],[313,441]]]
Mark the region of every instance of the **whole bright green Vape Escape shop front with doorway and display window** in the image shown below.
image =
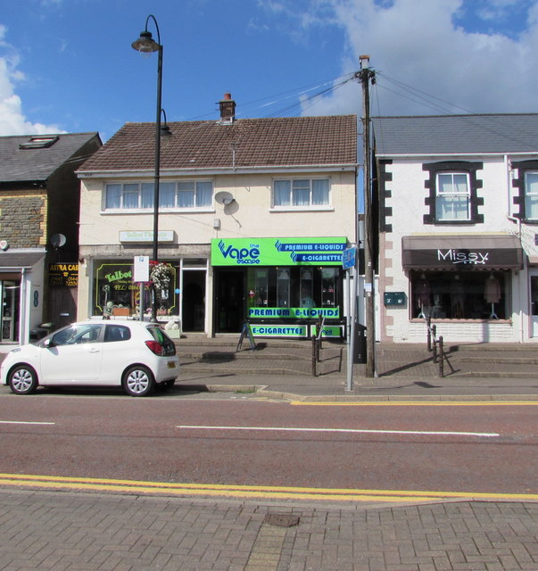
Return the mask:
[[[214,330],[256,337],[342,337],[345,237],[211,240]]]

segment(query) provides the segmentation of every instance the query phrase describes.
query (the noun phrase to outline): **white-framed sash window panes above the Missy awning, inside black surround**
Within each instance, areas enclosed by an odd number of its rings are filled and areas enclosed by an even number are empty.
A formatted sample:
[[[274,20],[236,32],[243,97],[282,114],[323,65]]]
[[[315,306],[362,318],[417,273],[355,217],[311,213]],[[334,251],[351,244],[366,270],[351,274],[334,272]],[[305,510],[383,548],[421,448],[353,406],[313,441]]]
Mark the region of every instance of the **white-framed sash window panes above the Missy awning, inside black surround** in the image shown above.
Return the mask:
[[[437,175],[435,218],[441,221],[470,219],[471,194],[467,173],[443,172]]]

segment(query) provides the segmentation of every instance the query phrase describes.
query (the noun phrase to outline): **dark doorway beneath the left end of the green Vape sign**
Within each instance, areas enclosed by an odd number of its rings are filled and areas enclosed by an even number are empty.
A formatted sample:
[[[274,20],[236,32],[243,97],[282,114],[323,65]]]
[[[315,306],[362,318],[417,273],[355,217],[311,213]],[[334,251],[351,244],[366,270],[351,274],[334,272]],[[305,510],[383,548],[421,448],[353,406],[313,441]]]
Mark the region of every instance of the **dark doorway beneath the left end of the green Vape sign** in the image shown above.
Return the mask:
[[[217,286],[217,332],[240,333],[244,320],[244,272],[221,270]]]

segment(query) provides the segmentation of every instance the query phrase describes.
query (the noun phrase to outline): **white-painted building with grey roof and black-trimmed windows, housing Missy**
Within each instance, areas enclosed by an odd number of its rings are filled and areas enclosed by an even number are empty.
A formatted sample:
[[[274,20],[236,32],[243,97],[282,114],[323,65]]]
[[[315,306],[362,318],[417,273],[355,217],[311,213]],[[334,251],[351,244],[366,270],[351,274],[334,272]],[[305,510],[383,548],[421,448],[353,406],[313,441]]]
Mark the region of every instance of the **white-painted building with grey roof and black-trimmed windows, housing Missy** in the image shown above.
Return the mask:
[[[399,129],[377,145],[381,341],[425,343],[429,318],[449,343],[538,342],[537,121],[375,120]]]

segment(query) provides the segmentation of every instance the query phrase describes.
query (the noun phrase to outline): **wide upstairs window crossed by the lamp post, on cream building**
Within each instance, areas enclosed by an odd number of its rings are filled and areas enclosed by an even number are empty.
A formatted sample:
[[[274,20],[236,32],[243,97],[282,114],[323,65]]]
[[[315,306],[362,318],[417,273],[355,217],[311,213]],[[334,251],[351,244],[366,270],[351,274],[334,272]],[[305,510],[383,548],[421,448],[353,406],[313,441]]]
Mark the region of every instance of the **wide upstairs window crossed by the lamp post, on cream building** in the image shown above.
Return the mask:
[[[106,185],[105,210],[153,210],[153,182]],[[170,210],[209,209],[212,206],[211,181],[161,182],[159,208]]]

